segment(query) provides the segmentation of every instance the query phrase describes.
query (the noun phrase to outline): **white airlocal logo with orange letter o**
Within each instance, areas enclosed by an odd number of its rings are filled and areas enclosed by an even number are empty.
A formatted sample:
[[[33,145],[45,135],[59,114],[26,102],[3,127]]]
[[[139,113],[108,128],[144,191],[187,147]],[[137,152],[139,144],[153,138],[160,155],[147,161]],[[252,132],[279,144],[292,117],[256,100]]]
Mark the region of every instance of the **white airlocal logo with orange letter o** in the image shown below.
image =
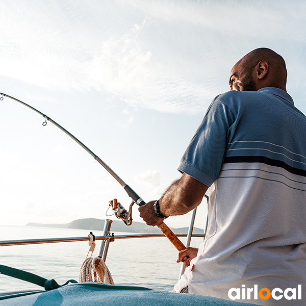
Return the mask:
[[[242,288],[231,288],[228,290],[228,297],[233,300],[258,299],[258,297],[263,300],[270,297],[275,300],[279,300],[283,297],[288,300],[302,299],[301,285],[297,285],[297,290],[296,288],[287,288],[284,291],[280,288],[274,288],[272,291],[268,288],[262,288],[258,291],[258,285],[254,285],[253,288],[245,288],[245,285],[242,285],[241,287]]]

